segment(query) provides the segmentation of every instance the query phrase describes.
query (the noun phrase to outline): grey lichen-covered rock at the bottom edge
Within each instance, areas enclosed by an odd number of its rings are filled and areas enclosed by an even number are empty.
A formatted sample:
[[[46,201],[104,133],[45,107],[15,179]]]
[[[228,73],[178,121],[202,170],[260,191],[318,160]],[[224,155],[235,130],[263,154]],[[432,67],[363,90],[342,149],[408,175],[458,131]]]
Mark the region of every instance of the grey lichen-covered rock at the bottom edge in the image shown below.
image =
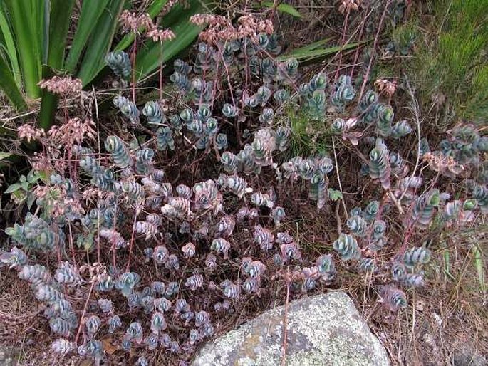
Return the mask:
[[[292,301],[286,323],[286,365],[389,365],[383,345],[346,293]],[[192,365],[281,365],[283,325],[284,306],[269,310],[205,345]]]

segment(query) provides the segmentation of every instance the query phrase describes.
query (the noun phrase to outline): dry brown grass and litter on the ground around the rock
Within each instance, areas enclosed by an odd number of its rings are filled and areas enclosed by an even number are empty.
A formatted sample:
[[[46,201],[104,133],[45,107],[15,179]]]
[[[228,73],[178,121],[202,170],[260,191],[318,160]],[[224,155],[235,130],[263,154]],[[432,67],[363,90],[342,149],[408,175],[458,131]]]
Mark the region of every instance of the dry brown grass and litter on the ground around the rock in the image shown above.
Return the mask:
[[[286,229],[297,236],[304,257],[315,258],[318,253],[332,251],[331,242],[337,235],[334,215],[316,216],[316,209],[312,209],[306,199],[289,202],[289,206],[295,207],[294,220],[286,223]],[[486,249],[488,234],[478,232],[477,244]],[[395,244],[390,245],[394,251]],[[391,313],[378,302],[376,290],[377,285],[385,280],[382,276],[364,276],[338,263],[338,274],[328,288],[340,289],[351,295],[373,333],[385,345],[393,365],[450,365],[452,357],[466,352],[467,345],[469,352],[476,351],[486,357],[487,298],[477,283],[471,246],[464,232],[447,240],[451,254],[449,276],[442,270],[445,268],[443,255],[446,249],[440,244],[432,246],[434,254],[426,273],[429,279],[427,286],[407,293],[409,306],[398,313]],[[483,260],[486,263],[486,251]],[[236,328],[265,309],[285,303],[286,286],[283,281],[266,281],[265,288],[261,298],[243,298],[235,304],[234,313],[212,320],[217,335]],[[322,287],[320,291],[327,291],[327,288]],[[14,345],[20,365],[79,364],[77,357],[56,363],[46,352],[56,337],[49,331],[47,320],[42,315],[43,308],[33,299],[24,281],[16,278],[13,272],[2,271],[0,293],[0,318],[5,328],[2,329],[0,345]],[[291,294],[290,300],[301,296],[307,295]],[[123,365],[127,354],[117,350],[112,342],[113,338],[103,338],[108,365]],[[140,355],[142,353],[131,352],[129,361],[135,362]],[[146,357],[155,365],[177,365],[174,356],[162,351],[147,352]]]

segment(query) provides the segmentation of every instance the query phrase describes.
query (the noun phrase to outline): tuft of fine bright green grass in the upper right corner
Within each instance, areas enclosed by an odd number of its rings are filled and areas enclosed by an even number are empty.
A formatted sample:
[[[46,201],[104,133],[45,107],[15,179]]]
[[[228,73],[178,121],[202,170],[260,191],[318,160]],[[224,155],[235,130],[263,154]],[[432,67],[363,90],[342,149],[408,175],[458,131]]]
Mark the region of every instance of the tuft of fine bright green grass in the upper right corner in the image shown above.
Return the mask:
[[[432,1],[432,35],[418,44],[417,85],[429,103],[447,103],[455,118],[488,117],[488,1]],[[434,98],[434,100],[431,100]]]

